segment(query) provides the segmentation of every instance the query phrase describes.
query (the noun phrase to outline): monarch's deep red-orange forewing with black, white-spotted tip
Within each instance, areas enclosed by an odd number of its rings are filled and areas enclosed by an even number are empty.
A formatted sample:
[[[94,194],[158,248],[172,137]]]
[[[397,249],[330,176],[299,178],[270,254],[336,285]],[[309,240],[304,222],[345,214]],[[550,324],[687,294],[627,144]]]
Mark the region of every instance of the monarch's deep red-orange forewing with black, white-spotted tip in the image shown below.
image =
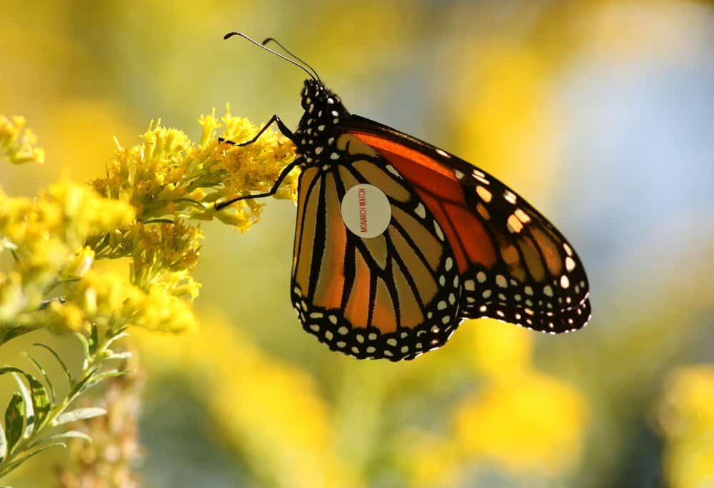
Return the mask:
[[[550,333],[588,322],[583,263],[511,188],[381,123],[351,116],[341,125],[396,168],[443,228],[461,275],[461,317],[493,317]]]

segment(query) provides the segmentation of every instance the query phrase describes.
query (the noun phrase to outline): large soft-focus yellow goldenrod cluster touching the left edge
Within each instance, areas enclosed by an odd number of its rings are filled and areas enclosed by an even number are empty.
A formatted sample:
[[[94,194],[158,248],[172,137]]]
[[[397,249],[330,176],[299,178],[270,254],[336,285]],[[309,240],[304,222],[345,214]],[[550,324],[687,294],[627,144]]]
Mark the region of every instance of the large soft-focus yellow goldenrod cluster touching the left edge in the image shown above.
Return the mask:
[[[94,260],[94,251],[84,248],[90,235],[132,220],[130,205],[99,198],[86,186],[56,183],[34,200],[0,191],[0,250],[15,259],[9,272],[0,272],[0,343],[10,327],[38,327],[48,315],[39,310],[43,300],[82,279]],[[67,313],[66,326],[76,330],[78,317]]]

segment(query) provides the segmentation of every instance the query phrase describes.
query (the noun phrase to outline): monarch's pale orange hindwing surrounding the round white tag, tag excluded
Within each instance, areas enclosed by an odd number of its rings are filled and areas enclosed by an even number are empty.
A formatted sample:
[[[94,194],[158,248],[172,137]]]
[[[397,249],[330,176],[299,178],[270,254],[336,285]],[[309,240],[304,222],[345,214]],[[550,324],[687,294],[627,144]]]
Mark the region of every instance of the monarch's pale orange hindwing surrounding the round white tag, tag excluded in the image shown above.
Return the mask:
[[[303,170],[291,300],[303,328],[332,350],[411,359],[440,347],[458,326],[460,276],[440,223],[412,185],[349,134],[331,165]],[[344,195],[367,183],[387,197],[391,220],[376,238],[346,228]]]

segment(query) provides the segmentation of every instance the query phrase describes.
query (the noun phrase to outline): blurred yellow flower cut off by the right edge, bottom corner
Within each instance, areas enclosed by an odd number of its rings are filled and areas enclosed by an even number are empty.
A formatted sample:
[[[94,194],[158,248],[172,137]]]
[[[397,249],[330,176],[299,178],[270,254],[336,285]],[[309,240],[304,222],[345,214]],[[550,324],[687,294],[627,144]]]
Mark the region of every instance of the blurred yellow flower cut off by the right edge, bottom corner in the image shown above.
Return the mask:
[[[714,366],[688,366],[671,372],[655,422],[665,439],[668,486],[713,486]]]

